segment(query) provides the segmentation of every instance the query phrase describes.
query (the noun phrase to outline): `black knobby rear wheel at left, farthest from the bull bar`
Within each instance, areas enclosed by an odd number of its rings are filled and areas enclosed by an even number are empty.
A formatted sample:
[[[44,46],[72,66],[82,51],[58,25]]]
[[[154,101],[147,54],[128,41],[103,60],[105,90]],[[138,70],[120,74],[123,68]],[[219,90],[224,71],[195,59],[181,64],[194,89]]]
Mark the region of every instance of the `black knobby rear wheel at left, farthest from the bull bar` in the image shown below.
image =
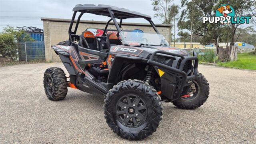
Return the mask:
[[[53,101],[63,100],[68,92],[67,77],[61,68],[48,68],[44,72],[44,91]]]

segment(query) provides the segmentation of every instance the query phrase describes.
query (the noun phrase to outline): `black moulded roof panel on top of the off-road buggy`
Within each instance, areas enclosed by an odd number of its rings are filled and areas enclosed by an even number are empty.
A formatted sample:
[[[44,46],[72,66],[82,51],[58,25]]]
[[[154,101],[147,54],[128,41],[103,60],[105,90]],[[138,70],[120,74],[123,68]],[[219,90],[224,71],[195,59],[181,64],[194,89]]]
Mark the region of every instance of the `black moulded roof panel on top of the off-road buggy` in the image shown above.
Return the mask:
[[[91,14],[96,14],[96,15],[103,15],[103,16],[108,16],[110,17],[110,14],[108,13],[108,10],[112,10],[116,16],[116,18],[122,17],[123,19],[125,18],[151,18],[150,16],[146,14],[142,14],[140,12],[135,12],[131,11],[125,8],[118,8],[116,6],[109,6],[105,4],[99,4],[98,6],[94,4],[77,4],[74,8],[73,11],[78,11],[78,12],[87,12]]]

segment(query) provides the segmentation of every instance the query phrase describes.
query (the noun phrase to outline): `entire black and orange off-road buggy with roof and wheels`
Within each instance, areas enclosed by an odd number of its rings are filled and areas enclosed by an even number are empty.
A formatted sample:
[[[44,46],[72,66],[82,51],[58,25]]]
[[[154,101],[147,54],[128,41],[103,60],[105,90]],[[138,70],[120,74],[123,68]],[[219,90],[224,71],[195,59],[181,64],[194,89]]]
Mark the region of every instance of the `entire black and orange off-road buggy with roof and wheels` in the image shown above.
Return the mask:
[[[64,99],[67,87],[104,96],[108,126],[123,138],[137,140],[156,131],[163,102],[194,109],[208,98],[209,84],[198,73],[196,53],[190,56],[185,50],[168,46],[150,16],[93,4],[78,4],[73,11],[69,40],[52,46],[69,80],[60,68],[45,71],[44,89],[50,100]],[[108,16],[110,20],[104,30],[89,28],[76,34],[85,13]],[[144,18],[155,32],[122,30],[122,20],[130,18]],[[108,30],[109,24],[116,30]]]

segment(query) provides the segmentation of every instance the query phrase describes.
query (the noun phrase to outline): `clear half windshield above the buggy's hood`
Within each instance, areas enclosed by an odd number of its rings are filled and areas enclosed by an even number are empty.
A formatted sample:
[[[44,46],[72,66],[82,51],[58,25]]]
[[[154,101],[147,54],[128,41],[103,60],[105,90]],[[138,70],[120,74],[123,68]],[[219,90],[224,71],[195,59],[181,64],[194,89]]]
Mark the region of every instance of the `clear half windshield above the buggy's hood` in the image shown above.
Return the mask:
[[[142,30],[133,30],[132,32],[122,31],[120,33],[123,44],[141,45],[148,44],[152,46],[166,45],[169,46],[167,40],[162,34],[144,33]]]

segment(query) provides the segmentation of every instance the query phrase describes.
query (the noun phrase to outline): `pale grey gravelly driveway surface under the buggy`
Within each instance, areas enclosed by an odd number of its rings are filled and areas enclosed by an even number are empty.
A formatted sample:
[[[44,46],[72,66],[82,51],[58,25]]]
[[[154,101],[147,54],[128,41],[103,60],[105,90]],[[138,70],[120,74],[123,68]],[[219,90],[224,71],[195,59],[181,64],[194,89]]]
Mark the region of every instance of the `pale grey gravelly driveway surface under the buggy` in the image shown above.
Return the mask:
[[[114,134],[104,98],[68,88],[64,100],[46,98],[43,74],[62,63],[0,68],[0,143],[133,143]],[[256,71],[200,65],[210,96],[196,110],[164,103],[154,134],[136,143],[256,143]],[[67,74],[67,73],[66,73]]]

